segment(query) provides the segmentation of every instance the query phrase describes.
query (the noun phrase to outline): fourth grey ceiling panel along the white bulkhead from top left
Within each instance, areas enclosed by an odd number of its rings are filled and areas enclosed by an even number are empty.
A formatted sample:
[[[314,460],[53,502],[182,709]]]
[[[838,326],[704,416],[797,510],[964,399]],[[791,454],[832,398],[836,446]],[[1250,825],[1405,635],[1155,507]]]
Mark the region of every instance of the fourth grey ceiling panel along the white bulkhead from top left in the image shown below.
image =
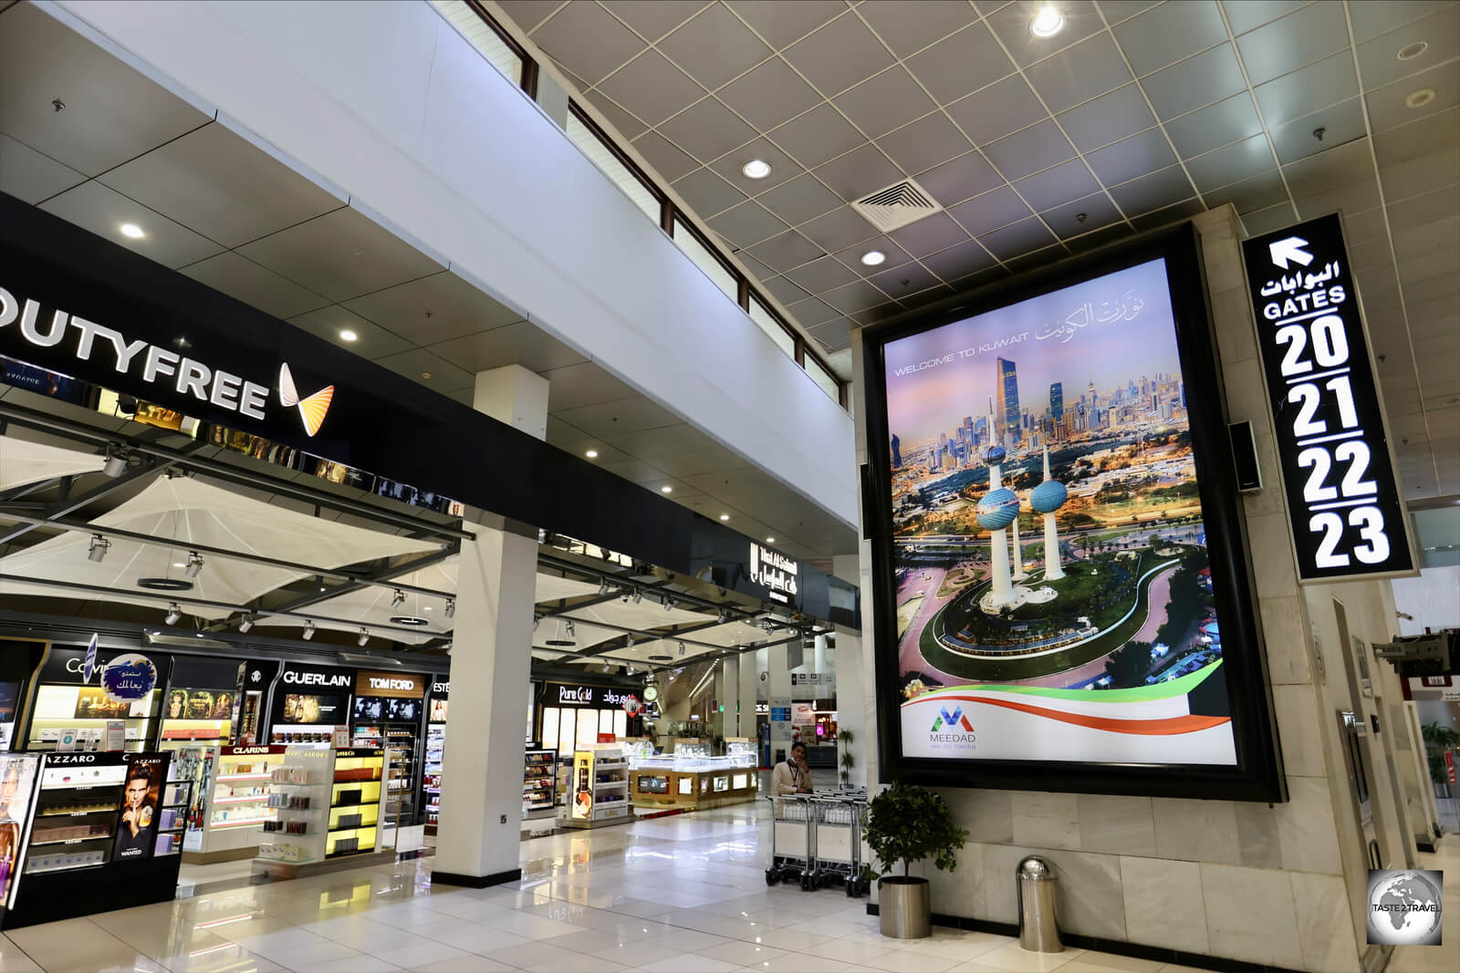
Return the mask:
[[[450,270],[377,290],[345,306],[416,344],[439,344],[523,319]]]

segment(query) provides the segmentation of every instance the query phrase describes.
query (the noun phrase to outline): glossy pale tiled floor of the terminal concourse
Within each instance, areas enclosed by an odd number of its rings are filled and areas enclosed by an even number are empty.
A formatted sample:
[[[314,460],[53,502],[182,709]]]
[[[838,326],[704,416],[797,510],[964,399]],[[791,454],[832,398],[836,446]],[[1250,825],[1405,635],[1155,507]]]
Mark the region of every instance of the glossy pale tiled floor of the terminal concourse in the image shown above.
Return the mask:
[[[526,878],[511,887],[432,887],[428,858],[16,929],[0,937],[0,973],[1184,969],[1080,950],[1037,955],[977,932],[885,939],[863,899],[766,887],[768,833],[756,810],[527,842]],[[1456,839],[1441,856],[1447,878],[1460,871]],[[1456,894],[1451,883],[1445,891]],[[1397,954],[1390,969],[1450,969],[1434,960]]]

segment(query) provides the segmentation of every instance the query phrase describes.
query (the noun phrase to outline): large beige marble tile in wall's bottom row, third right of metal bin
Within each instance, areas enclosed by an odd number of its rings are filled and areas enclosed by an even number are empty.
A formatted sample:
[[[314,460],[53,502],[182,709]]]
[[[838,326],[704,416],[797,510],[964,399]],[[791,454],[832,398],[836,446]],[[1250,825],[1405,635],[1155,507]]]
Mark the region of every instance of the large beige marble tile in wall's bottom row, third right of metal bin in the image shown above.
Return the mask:
[[[1288,875],[1266,868],[1202,865],[1209,953],[1298,969],[1298,913]]]

